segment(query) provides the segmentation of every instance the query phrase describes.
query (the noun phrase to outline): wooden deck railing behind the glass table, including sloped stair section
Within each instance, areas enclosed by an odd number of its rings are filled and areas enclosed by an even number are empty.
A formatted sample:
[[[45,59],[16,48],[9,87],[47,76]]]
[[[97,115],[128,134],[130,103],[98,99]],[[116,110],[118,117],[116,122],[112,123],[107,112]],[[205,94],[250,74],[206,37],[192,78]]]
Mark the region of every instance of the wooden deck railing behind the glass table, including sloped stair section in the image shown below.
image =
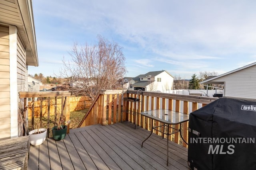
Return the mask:
[[[139,102],[130,102],[123,98],[138,98]],[[203,107],[217,98],[209,98],[203,96],[185,96],[178,94],[166,94],[157,92],[140,92],[136,90],[102,90],[95,98],[90,109],[82,119],[78,127],[85,127],[95,124],[113,124],[121,121],[130,121],[136,123],[144,129],[150,130],[151,121],[144,116],[140,116],[141,111],[153,109],[170,109],[189,114],[191,111]],[[134,114],[137,116],[135,117]],[[136,118],[136,119],[135,119]],[[154,121],[154,125],[161,125],[160,122]],[[174,128],[178,129],[179,125]],[[182,123],[182,136],[188,141],[187,134],[188,122]],[[161,135],[160,132],[155,132]],[[175,143],[182,144],[178,133],[170,135],[170,140]]]

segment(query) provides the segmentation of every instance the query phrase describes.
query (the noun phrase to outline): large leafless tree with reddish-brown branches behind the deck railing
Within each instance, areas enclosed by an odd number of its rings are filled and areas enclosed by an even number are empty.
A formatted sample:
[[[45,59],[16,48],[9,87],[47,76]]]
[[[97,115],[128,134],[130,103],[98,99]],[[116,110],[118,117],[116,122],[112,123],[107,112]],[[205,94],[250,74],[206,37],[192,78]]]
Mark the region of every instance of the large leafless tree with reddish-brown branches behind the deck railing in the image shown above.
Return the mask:
[[[118,80],[127,70],[122,47],[98,35],[98,43],[78,46],[71,49],[70,61],[63,59],[62,76],[71,77],[71,91],[75,95],[94,99],[99,90],[118,88]]]

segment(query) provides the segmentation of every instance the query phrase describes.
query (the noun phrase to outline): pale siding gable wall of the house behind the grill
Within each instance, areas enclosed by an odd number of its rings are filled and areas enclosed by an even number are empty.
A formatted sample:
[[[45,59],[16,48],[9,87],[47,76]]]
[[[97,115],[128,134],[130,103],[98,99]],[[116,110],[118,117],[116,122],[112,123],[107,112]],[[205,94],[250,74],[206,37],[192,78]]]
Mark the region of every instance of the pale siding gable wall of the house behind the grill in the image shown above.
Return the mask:
[[[225,82],[224,96],[256,99],[255,65],[218,78],[218,81]]]

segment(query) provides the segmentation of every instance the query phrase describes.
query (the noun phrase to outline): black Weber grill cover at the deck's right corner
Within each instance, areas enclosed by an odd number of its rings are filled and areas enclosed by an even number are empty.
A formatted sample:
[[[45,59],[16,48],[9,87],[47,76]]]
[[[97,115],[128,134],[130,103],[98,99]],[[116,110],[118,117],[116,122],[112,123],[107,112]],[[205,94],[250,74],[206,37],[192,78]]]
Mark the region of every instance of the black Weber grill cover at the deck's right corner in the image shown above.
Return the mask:
[[[256,170],[255,100],[219,98],[190,113],[188,131],[192,169]]]

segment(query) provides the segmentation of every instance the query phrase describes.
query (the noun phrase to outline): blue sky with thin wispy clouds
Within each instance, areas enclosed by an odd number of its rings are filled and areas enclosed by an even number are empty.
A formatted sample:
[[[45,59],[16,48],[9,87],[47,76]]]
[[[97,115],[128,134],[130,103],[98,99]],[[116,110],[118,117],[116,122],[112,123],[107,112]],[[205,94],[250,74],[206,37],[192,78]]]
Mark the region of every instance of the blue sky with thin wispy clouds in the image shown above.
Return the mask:
[[[254,0],[33,0],[39,66],[59,74],[74,42],[123,47],[126,76],[167,70],[190,79],[256,62]]]

